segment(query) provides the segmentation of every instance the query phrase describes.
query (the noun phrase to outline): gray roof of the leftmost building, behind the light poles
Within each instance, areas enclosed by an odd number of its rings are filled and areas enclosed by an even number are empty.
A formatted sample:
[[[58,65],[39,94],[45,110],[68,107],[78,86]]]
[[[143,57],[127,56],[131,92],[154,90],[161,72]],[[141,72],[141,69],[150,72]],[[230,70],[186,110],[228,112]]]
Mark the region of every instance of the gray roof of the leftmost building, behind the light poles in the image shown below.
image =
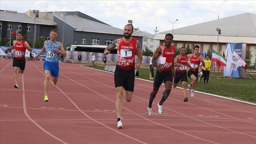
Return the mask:
[[[28,16],[25,13],[17,13],[16,11],[0,11],[0,21],[11,21],[11,22],[21,22],[21,23],[35,23],[35,18]],[[44,18],[36,18],[36,24],[41,25],[54,25],[57,23]]]

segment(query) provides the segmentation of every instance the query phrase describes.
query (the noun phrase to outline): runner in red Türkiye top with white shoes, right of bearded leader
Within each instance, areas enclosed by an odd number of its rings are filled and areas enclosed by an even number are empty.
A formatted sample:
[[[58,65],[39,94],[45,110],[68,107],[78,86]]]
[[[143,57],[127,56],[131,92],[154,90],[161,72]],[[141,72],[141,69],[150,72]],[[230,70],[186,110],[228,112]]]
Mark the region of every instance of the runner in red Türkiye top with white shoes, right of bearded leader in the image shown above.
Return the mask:
[[[173,35],[171,33],[167,33],[165,35],[165,44],[160,45],[158,48],[156,48],[155,55],[152,59],[152,64],[155,66],[157,71],[155,74],[153,91],[150,93],[149,96],[149,105],[147,109],[148,116],[151,115],[152,103],[163,81],[165,83],[165,91],[163,92],[162,99],[157,103],[158,113],[163,113],[162,105],[171,93],[172,78],[175,77],[173,65],[175,47],[171,45],[172,42]],[[156,59],[158,59],[159,65],[156,63]]]

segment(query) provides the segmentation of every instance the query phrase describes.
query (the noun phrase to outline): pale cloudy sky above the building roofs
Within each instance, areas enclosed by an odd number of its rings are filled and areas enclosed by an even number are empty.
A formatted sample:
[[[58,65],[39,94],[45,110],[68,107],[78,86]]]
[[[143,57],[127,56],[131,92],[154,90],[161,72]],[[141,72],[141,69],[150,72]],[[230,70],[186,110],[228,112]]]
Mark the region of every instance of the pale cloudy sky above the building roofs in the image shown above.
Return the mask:
[[[256,13],[255,5],[256,0],[0,0],[1,10],[80,11],[122,29],[133,20],[134,27],[152,34],[155,27],[164,32],[172,26],[176,29],[213,21],[218,15]]]

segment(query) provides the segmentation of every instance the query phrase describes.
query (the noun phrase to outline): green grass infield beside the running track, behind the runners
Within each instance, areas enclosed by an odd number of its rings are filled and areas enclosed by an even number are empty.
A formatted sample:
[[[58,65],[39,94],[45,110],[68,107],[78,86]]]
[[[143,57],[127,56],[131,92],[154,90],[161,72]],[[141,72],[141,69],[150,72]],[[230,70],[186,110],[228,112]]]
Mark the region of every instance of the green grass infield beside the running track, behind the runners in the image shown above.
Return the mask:
[[[91,66],[89,65],[88,67]],[[96,65],[95,68],[104,70],[103,66]],[[156,69],[154,70],[156,73]],[[136,78],[149,80],[150,70],[148,68],[140,68],[138,71],[140,76],[136,76]],[[219,75],[223,74],[219,72]],[[251,76],[256,79],[256,74]],[[151,81],[154,81],[154,79]],[[188,78],[188,83],[190,82],[191,80]],[[182,87],[181,82],[179,82],[178,86]],[[197,81],[195,91],[202,91],[214,95],[226,96],[241,101],[256,103],[256,80],[251,80],[249,77],[248,79],[217,78],[217,72],[215,71],[211,73],[208,84],[203,84],[203,79],[201,82]]]

